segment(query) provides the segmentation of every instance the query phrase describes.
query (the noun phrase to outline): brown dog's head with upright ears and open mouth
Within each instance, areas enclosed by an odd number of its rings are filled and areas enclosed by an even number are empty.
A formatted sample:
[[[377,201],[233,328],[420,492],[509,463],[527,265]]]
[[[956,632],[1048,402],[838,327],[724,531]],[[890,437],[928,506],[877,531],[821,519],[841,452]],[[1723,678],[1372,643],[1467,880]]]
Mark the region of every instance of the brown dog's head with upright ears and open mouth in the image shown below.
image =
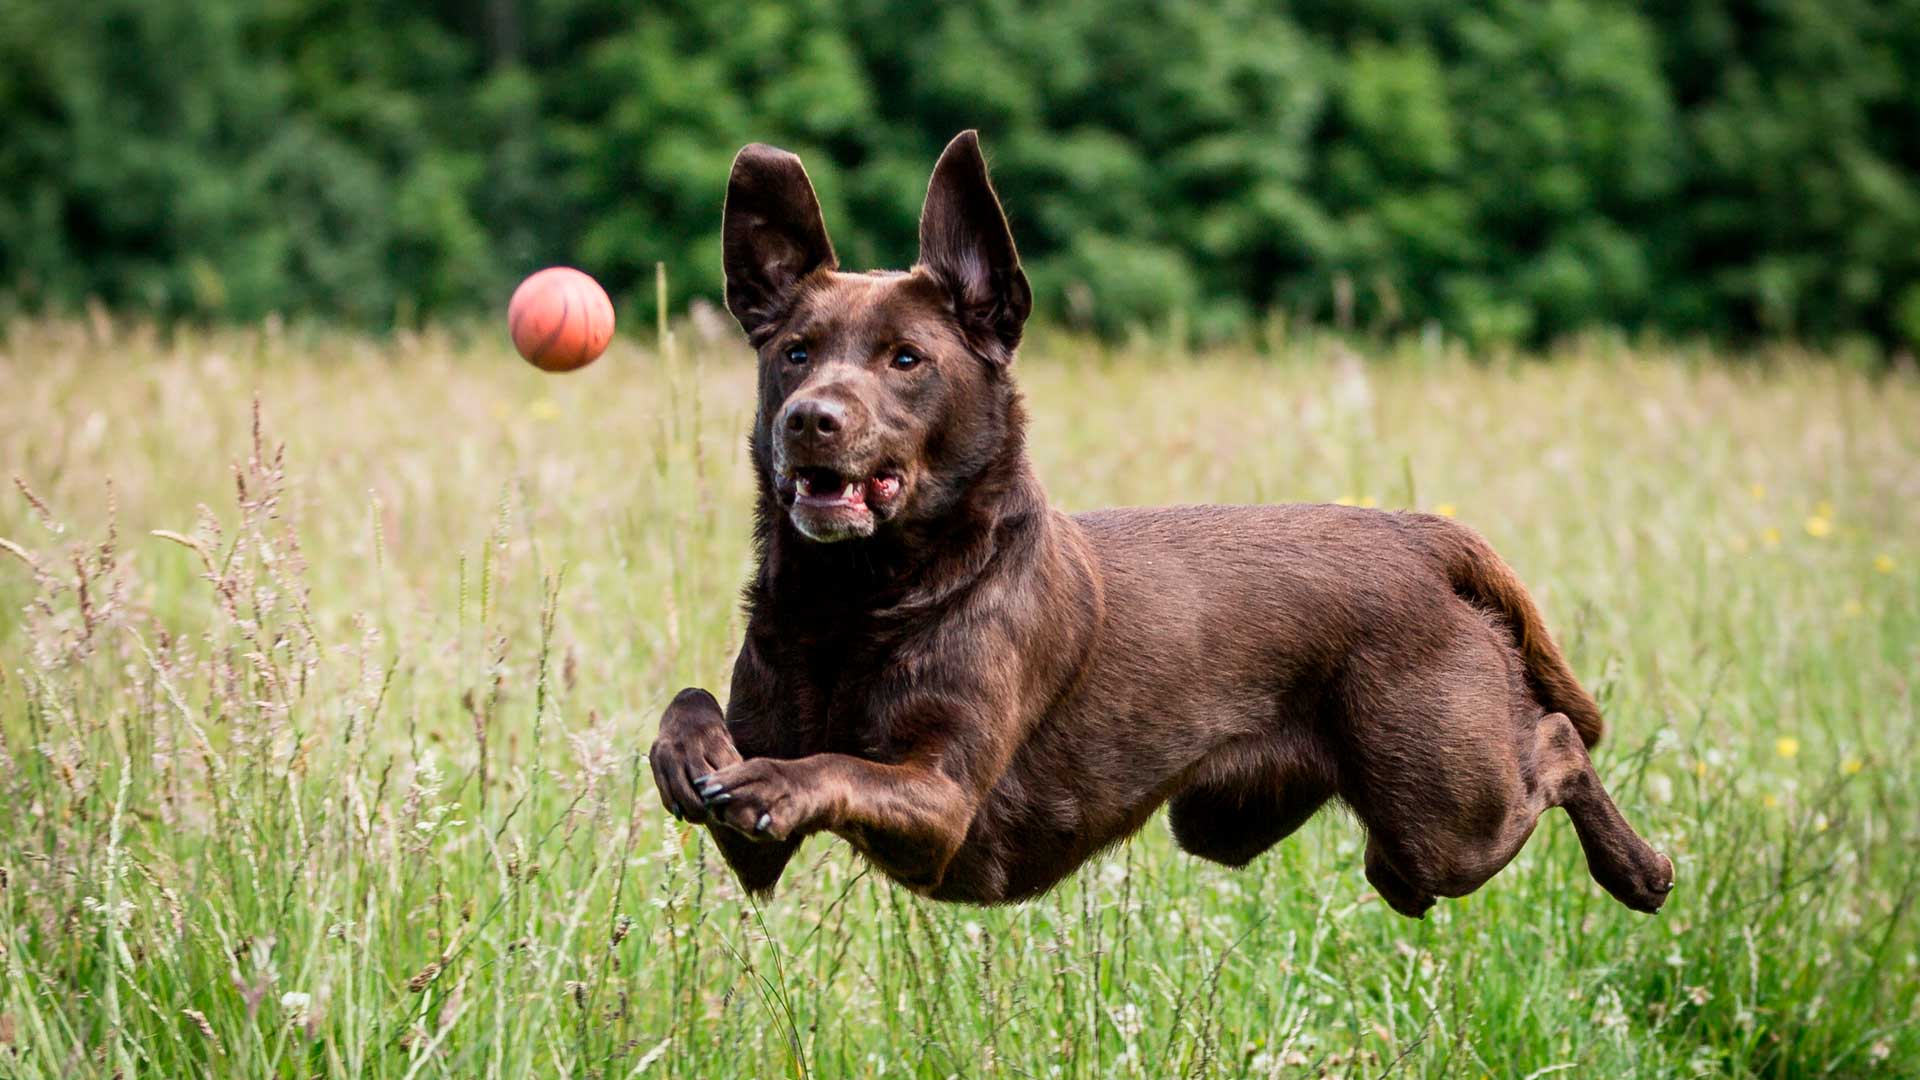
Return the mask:
[[[733,160],[726,304],[760,357],[753,457],[806,540],[950,513],[1020,438],[1008,367],[1033,307],[979,136],[933,167],[920,261],[841,273],[801,160]]]

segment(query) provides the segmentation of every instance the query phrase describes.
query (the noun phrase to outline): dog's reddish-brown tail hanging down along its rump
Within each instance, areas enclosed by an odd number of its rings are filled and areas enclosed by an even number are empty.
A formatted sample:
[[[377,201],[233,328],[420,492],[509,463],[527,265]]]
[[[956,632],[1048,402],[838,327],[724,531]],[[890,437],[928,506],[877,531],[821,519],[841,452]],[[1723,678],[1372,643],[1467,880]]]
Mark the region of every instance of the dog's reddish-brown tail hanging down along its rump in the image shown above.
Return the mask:
[[[1567,657],[1548,634],[1540,609],[1534,607],[1534,598],[1528,596],[1513,567],[1494,553],[1486,538],[1457,521],[1430,513],[1409,513],[1405,521],[1440,561],[1453,592],[1507,621],[1513,640],[1521,646],[1521,659],[1526,663],[1526,680],[1532,682],[1540,703],[1567,713],[1574,730],[1580,732],[1580,742],[1588,746],[1599,742],[1607,726],[1599,719],[1599,705],[1567,667]]]

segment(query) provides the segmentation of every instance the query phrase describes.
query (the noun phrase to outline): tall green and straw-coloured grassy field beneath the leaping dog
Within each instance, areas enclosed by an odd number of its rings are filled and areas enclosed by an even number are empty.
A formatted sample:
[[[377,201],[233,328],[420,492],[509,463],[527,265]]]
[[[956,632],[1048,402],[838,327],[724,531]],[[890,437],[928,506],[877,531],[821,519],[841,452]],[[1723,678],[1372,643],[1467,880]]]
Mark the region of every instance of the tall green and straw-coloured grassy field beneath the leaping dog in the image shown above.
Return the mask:
[[[501,338],[10,327],[0,1076],[1920,1070],[1910,373],[1029,348],[1064,505],[1417,505],[1534,586],[1678,890],[1551,815],[1411,922],[1342,813],[991,911],[816,838],[747,901],[643,759],[741,630],[745,348]]]

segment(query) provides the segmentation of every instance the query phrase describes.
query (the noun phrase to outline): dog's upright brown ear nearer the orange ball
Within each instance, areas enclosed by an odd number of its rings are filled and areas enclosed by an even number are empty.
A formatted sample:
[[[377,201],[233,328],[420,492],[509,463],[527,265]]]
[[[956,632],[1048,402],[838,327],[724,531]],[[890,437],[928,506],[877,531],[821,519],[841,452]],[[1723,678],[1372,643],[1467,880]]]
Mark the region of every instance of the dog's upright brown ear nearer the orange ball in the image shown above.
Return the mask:
[[[801,160],[760,142],[733,158],[720,242],[728,311],[755,344],[785,315],[801,279],[837,265]]]

